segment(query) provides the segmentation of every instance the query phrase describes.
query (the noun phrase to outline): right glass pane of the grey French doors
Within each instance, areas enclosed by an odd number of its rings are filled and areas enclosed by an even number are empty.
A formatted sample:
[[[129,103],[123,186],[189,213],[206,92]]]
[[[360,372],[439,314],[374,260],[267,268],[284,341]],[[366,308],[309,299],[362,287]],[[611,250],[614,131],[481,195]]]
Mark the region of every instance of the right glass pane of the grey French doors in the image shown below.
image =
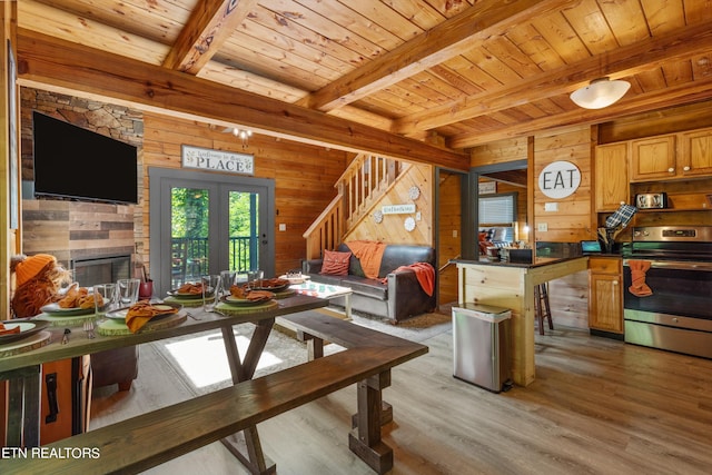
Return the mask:
[[[259,268],[259,195],[229,191],[228,196],[229,268],[245,274]]]

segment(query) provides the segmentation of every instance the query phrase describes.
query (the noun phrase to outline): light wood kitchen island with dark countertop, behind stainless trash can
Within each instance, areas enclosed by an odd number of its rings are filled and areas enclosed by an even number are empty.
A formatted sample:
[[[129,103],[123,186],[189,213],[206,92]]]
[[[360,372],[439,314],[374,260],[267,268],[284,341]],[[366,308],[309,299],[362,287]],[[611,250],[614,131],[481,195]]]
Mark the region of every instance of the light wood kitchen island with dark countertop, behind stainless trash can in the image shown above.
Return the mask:
[[[536,258],[533,264],[453,260],[457,265],[457,301],[512,310],[512,380],[534,382],[534,287],[589,267],[586,256]]]

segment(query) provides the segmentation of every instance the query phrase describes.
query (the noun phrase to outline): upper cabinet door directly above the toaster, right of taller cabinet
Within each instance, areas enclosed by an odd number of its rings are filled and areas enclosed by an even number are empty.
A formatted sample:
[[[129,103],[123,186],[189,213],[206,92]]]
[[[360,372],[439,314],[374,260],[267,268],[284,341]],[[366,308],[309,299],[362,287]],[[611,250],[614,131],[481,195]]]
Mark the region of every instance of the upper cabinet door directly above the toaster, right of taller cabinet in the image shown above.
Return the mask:
[[[631,181],[649,181],[675,178],[675,136],[659,136],[631,140]]]

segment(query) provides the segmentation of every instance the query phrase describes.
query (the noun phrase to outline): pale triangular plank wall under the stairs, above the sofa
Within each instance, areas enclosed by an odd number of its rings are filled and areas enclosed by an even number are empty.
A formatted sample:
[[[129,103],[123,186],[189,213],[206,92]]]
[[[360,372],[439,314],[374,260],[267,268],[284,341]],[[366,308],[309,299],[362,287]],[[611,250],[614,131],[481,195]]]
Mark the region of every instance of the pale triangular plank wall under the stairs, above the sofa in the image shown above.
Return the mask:
[[[348,240],[378,240],[388,244],[412,244],[433,246],[433,167],[429,165],[412,164],[407,170],[398,177],[398,180],[388,189],[386,195],[374,204],[372,211],[366,215],[344,237]],[[417,199],[411,199],[408,190],[417,187],[421,195]],[[388,205],[415,204],[416,212],[406,215],[384,215],[382,222],[373,219],[373,212]],[[417,214],[421,219],[417,219]],[[415,229],[407,231],[404,222],[406,218],[415,219]]]

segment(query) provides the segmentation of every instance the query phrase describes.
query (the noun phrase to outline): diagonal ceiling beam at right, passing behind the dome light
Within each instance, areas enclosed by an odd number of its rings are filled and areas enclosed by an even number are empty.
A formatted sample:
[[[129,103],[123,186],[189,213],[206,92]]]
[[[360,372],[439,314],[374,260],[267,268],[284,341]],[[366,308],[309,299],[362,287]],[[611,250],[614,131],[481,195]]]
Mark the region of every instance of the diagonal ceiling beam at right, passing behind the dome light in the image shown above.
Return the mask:
[[[708,23],[693,24],[577,63],[523,78],[514,86],[504,86],[484,93],[467,96],[454,102],[413,113],[395,120],[390,131],[411,136],[423,130],[527,103],[533,96],[542,100],[568,93],[585,86],[592,79],[606,76],[621,79],[710,51],[712,51],[712,28]]]

